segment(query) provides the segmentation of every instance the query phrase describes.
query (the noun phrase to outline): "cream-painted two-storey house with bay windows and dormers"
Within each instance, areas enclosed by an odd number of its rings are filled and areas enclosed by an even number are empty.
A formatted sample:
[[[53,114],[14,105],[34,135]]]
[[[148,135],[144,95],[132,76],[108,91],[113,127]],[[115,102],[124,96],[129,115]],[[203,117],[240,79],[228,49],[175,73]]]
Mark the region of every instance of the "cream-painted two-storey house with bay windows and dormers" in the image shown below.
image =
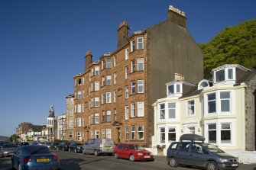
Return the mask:
[[[153,147],[162,146],[166,154],[170,143],[178,141],[183,133],[196,133],[205,136],[206,143],[235,155],[247,150],[245,91],[255,71],[228,64],[212,69],[211,74],[212,81],[202,80],[198,85],[184,82],[178,74],[166,84],[167,97],[153,104]],[[250,126],[255,132],[255,123]]]

